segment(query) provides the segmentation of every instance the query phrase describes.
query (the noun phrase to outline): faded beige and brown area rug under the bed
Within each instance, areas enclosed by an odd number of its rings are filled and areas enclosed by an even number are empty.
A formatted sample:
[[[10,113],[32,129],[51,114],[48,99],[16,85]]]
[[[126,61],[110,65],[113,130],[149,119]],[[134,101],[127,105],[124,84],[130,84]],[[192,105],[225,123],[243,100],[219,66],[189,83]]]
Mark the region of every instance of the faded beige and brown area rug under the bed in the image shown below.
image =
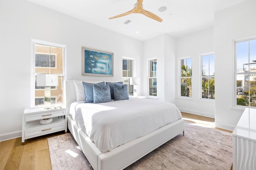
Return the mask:
[[[48,138],[52,170],[93,170],[70,133]],[[185,122],[174,137],[125,170],[230,170],[231,133]]]

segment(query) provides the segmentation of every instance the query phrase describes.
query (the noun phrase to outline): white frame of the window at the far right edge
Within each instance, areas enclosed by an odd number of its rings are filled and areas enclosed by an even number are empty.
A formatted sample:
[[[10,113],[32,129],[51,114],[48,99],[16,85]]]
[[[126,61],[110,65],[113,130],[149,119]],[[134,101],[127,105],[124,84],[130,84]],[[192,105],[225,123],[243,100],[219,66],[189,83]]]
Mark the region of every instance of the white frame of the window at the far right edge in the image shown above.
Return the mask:
[[[243,42],[243,41],[250,41],[250,40],[253,40],[253,39],[256,39],[256,36],[252,36],[252,37],[247,37],[247,38],[242,38],[242,39],[236,39],[233,41],[233,53],[234,53],[234,86],[233,86],[233,106],[235,109],[244,109],[246,107],[250,107],[250,108],[255,108],[255,107],[252,107],[252,106],[242,106],[242,105],[237,105],[237,82],[236,82],[236,78],[237,78],[237,56],[236,56],[236,43],[240,43],[240,42]],[[249,49],[249,56],[250,56],[250,46],[248,47]],[[249,63],[250,63],[250,59],[249,59]],[[241,74],[244,74],[245,72],[241,73]],[[256,71],[255,72],[249,72],[248,73],[249,75],[250,74],[256,74]],[[250,95],[249,95],[250,96]],[[250,100],[250,98],[249,98]]]

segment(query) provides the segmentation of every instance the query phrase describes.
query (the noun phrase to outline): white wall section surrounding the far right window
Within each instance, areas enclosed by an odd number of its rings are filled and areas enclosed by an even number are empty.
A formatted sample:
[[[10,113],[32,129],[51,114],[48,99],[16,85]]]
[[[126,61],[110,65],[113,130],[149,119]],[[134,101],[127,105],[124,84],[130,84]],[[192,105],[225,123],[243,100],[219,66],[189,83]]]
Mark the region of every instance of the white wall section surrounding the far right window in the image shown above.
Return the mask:
[[[214,15],[216,127],[233,130],[243,112],[234,106],[234,40],[256,35],[255,7],[246,0]]]

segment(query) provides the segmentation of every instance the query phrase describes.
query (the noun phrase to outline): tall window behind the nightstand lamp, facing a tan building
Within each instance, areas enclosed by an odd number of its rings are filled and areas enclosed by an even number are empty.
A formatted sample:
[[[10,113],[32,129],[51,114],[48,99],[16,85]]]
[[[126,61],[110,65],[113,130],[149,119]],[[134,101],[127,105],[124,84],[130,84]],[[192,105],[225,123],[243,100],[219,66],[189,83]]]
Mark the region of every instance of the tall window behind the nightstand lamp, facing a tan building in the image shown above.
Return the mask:
[[[63,83],[65,80],[65,45],[32,39],[33,73],[32,73],[32,106],[44,105],[44,88],[36,86],[39,73],[58,74],[58,86],[51,86],[51,103],[62,104]]]

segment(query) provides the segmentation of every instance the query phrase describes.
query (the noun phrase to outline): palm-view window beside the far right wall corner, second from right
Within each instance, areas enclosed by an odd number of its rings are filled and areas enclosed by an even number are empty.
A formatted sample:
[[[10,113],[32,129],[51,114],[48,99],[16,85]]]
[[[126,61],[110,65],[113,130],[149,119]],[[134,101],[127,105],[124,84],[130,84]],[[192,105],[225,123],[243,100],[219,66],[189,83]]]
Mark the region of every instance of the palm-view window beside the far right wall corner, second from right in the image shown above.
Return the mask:
[[[214,54],[201,56],[202,98],[215,99]]]

